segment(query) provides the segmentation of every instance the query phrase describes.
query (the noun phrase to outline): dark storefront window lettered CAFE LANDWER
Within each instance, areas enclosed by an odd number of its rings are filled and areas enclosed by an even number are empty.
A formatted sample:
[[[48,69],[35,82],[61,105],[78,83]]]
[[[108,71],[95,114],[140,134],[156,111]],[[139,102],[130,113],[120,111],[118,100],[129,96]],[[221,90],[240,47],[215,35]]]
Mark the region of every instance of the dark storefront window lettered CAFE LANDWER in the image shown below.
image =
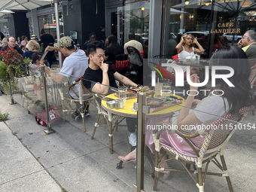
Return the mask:
[[[166,0],[162,53],[173,54],[184,33],[197,37],[209,58],[215,50],[237,46],[245,31],[256,28],[256,3],[251,0]],[[165,14],[166,13],[166,14]]]

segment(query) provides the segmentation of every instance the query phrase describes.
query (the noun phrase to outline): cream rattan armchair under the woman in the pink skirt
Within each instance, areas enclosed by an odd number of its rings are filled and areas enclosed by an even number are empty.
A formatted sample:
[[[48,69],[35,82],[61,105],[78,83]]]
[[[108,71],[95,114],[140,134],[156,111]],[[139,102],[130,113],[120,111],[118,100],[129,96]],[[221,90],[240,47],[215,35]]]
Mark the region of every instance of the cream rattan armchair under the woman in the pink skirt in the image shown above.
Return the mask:
[[[244,117],[248,114],[248,111],[251,111],[254,108],[254,106],[251,107],[245,107],[241,108],[239,110],[239,114],[242,115],[242,117],[238,117],[233,114],[227,114],[224,116],[224,118],[219,118],[218,120],[215,120],[213,123],[211,123],[209,126],[207,126],[207,129],[200,130],[196,133],[190,134],[187,132],[184,132],[183,130],[174,130],[176,134],[181,139],[184,139],[185,142],[187,142],[188,145],[190,145],[190,148],[193,149],[193,151],[197,154],[197,157],[189,157],[185,156],[184,154],[178,153],[178,151],[175,151],[175,149],[166,147],[164,145],[161,145],[160,143],[160,134],[163,133],[165,130],[154,130],[153,138],[154,138],[154,145],[155,145],[155,177],[154,177],[154,187],[153,190],[157,190],[157,182],[158,182],[158,173],[160,170],[163,171],[171,171],[171,172],[187,172],[190,177],[194,180],[195,184],[197,184],[197,187],[199,188],[200,192],[203,192],[204,183],[206,179],[206,175],[218,175],[226,177],[227,184],[230,189],[230,191],[233,191],[230,176],[227,171],[227,166],[224,160],[224,148],[227,145],[227,142],[229,141],[230,137],[235,132],[235,125],[237,125],[236,122],[233,122],[231,120],[236,120],[241,122]],[[171,123],[167,122],[160,122],[158,125],[166,125],[171,126]],[[211,129],[210,127],[226,127],[228,126],[229,129]],[[232,128],[232,129],[230,129]],[[200,151],[198,152],[196,148],[191,144],[190,139],[191,138],[197,138],[197,136],[200,135],[206,135],[203,145],[200,148]],[[170,167],[168,168],[160,168],[160,164],[163,163],[160,161],[160,159],[163,157],[159,156],[160,149],[164,151],[163,155],[171,154],[172,157],[164,160],[163,162],[168,162],[171,160],[178,160],[178,162],[181,163],[182,166],[184,166],[184,169],[172,169]],[[216,159],[217,156],[220,156],[221,163]],[[221,169],[221,172],[208,172],[208,166],[209,163],[213,162],[219,169]],[[203,163],[206,163],[206,167],[203,172]],[[190,166],[194,166],[194,170],[190,170]],[[192,175],[196,174],[196,176]]]

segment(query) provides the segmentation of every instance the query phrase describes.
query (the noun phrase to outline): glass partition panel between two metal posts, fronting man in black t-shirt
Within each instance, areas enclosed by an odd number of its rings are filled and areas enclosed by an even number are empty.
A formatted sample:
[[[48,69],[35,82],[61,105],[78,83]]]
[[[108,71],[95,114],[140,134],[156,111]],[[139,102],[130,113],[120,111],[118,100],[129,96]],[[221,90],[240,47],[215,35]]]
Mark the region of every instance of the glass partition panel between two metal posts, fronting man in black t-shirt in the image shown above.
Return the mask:
[[[57,73],[58,69],[51,71]],[[137,102],[138,88],[125,87],[117,81],[111,82],[110,87],[73,76],[70,77],[75,79],[73,82],[60,82],[53,76],[47,77],[47,102],[54,106],[53,112],[58,116],[56,121],[50,122],[52,129],[117,179],[133,187],[136,161],[127,164],[128,160],[119,156],[136,147],[137,112],[133,103]],[[30,94],[38,99],[35,90]],[[32,103],[29,100],[28,105]]]

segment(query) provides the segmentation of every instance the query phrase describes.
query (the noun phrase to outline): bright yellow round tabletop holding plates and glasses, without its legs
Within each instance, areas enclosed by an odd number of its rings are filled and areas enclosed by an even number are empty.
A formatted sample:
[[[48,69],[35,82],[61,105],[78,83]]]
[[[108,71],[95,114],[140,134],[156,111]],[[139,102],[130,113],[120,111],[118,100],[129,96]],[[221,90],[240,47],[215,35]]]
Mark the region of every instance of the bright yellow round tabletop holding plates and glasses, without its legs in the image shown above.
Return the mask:
[[[170,94],[170,96],[173,96]],[[178,99],[183,99],[181,96],[175,95]],[[117,96],[114,96],[114,94],[106,96],[111,99],[118,99]],[[108,105],[106,101],[102,100],[102,108],[104,108],[106,111],[111,112],[111,114],[117,114],[121,115],[123,117],[137,117],[137,111],[133,111],[133,103],[137,102],[137,98],[133,99],[126,99],[126,102],[124,102],[123,108],[115,109],[115,108],[108,108]],[[179,105],[171,105],[169,108],[163,108],[163,110],[152,112],[151,114],[148,114],[147,117],[166,117],[171,115],[175,111],[179,111],[181,107],[184,105],[184,101]]]

